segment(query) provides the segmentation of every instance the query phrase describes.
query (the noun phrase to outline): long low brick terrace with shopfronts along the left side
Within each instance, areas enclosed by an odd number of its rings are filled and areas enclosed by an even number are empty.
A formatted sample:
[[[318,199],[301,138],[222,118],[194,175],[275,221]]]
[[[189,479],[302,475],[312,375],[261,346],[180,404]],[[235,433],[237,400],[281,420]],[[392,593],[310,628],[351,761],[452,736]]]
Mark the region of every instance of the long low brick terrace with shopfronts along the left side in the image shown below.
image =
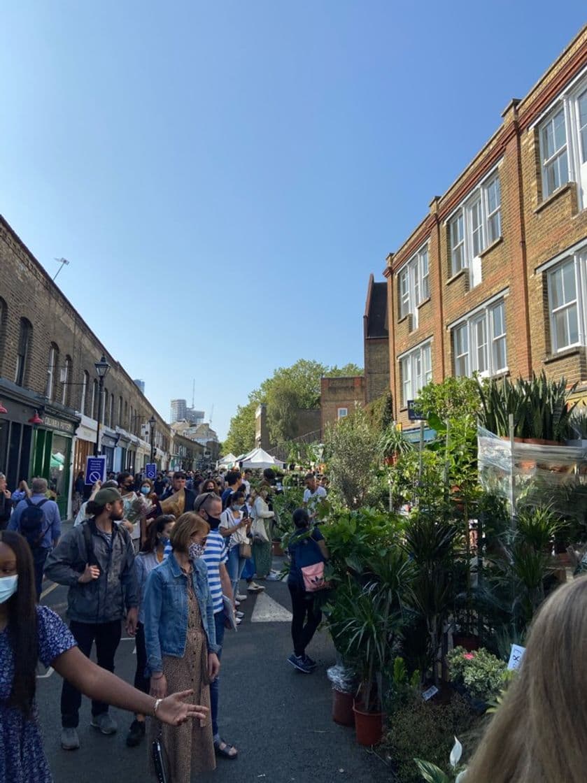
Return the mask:
[[[0,274],[0,471],[9,487],[44,476],[68,513],[74,475],[94,453],[102,356],[110,364],[100,421],[107,470],[138,472],[149,461],[151,417],[155,460],[168,467],[168,424],[1,216]]]

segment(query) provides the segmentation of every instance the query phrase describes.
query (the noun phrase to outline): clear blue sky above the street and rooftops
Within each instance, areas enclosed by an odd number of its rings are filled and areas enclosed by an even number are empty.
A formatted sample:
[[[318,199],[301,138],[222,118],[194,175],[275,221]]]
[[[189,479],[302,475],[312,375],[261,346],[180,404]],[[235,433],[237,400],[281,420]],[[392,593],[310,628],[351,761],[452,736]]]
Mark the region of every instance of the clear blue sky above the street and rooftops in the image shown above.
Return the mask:
[[[562,12],[562,10],[564,11]],[[368,275],[585,2],[4,5],[0,212],[164,416],[362,364]],[[0,281],[1,287],[1,281]]]

